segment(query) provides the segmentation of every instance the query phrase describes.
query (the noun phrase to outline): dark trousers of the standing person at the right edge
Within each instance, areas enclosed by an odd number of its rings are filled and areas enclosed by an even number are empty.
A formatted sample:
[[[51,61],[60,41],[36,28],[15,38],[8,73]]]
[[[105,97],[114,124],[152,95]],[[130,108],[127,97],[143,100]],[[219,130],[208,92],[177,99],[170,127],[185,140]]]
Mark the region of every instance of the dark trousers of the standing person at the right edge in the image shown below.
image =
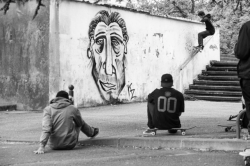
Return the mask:
[[[245,100],[246,115],[250,121],[250,80],[240,79],[240,87]],[[250,123],[248,123],[248,131],[250,132]]]

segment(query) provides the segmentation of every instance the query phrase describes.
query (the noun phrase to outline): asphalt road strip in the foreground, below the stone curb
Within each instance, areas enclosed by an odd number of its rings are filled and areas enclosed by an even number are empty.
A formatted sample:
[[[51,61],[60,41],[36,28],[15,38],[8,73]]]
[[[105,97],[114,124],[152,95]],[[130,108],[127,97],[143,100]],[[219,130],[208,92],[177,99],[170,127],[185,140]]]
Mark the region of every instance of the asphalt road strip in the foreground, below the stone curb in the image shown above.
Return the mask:
[[[243,166],[238,152],[77,146],[70,151],[33,154],[35,144],[0,143],[1,166]]]

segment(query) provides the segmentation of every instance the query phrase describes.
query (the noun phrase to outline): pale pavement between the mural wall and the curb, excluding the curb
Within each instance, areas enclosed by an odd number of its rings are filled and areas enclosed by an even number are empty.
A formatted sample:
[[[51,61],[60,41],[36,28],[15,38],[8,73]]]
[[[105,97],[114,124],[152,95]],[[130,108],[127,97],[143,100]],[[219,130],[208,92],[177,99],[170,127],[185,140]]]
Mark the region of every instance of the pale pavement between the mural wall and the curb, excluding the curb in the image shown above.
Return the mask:
[[[187,131],[190,138],[235,138],[235,132],[224,132],[218,124],[234,124],[227,121],[237,114],[240,103],[186,101],[185,113],[181,116],[183,127],[197,126]],[[111,105],[80,109],[83,119],[100,128],[98,138],[140,137],[147,128],[146,103]],[[41,132],[42,112],[0,111],[0,139],[38,141]],[[159,131],[156,137],[176,137]],[[180,133],[177,134],[178,137]],[[81,134],[80,139],[86,139]]]

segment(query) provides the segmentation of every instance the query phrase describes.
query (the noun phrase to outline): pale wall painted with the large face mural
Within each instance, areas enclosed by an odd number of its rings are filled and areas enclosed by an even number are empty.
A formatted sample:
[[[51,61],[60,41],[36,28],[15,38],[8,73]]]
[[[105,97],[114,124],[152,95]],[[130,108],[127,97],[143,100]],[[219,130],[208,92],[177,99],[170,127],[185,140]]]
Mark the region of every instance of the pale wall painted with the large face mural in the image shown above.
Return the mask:
[[[96,16],[102,10],[107,17]],[[74,1],[52,0],[50,13],[50,98],[73,84],[79,107],[143,101],[164,73],[183,92],[210,60],[220,59],[217,30],[204,51],[178,70],[205,30],[197,22]]]

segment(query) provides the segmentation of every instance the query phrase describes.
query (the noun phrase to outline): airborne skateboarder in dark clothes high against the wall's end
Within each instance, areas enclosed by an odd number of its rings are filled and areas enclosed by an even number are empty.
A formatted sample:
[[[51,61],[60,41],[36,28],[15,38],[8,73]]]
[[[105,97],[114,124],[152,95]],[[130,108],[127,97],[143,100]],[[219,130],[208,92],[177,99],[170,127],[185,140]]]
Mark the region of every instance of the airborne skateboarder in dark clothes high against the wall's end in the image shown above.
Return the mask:
[[[198,33],[198,46],[195,46],[195,48],[203,50],[204,45],[203,45],[203,39],[206,38],[207,36],[214,35],[215,33],[215,28],[211,22],[211,15],[210,14],[205,14],[203,11],[198,12],[198,16],[201,18],[201,22],[205,22],[206,25],[206,30]]]

